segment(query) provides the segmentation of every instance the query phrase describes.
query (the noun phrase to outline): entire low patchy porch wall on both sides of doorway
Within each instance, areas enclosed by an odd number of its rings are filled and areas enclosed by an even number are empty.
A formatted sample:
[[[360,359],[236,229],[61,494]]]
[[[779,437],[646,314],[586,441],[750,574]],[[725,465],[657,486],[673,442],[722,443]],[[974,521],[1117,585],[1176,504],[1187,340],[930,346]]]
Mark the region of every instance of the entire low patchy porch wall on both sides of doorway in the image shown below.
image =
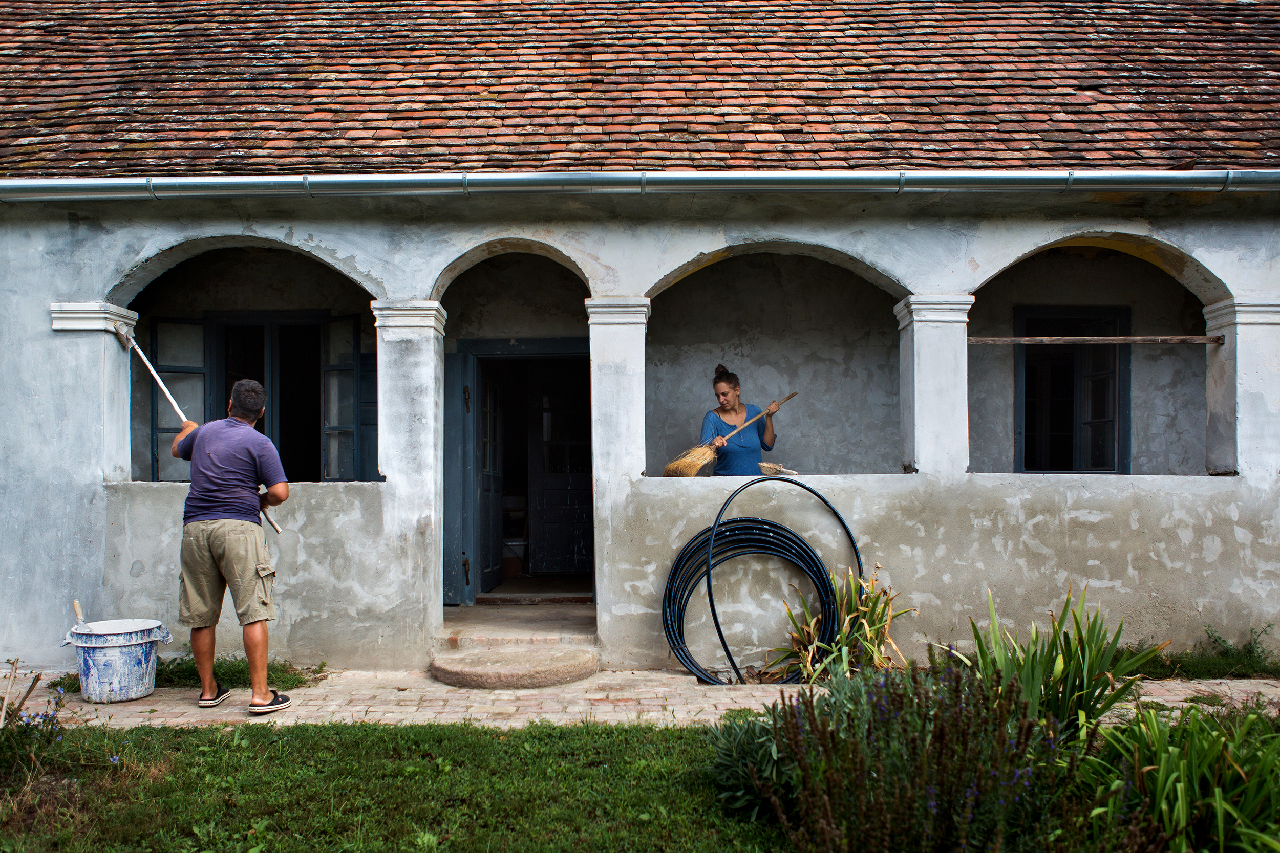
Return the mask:
[[[1189,646],[1212,624],[1245,637],[1280,611],[1280,499],[1239,477],[1108,477],[969,474],[814,476],[799,480],[828,497],[858,536],[868,570],[918,613],[895,637],[909,656],[924,641],[969,638],[968,619],[986,619],[991,588],[1002,620],[1025,632],[1047,623],[1069,586],[1087,582],[1089,602],[1125,620],[1125,637]],[[618,497],[609,529],[596,529],[598,618],[603,665],[677,665],[662,632],[662,592],[672,561],[714,520],[742,478],[640,478]],[[109,483],[110,526],[104,607],[91,618],[178,622],[178,552],[183,483]],[[419,669],[431,655],[438,620],[422,568],[422,536],[388,532],[385,483],[296,483],[274,510],[284,533],[268,531],[278,567],[279,619],[273,652],[297,662],[358,669]],[[787,524],[828,565],[850,565],[835,519],[808,492],[778,483],[746,491],[730,515]],[[740,564],[739,564],[740,563]],[[742,662],[785,639],[785,600],[805,582],[777,561],[744,559],[717,574],[722,624]],[[429,581],[428,577],[433,575]],[[695,600],[689,641],[695,656],[722,666],[723,655]],[[239,648],[229,604],[219,648]],[[179,642],[186,632],[178,633]],[[177,651],[170,647],[166,651]]]

